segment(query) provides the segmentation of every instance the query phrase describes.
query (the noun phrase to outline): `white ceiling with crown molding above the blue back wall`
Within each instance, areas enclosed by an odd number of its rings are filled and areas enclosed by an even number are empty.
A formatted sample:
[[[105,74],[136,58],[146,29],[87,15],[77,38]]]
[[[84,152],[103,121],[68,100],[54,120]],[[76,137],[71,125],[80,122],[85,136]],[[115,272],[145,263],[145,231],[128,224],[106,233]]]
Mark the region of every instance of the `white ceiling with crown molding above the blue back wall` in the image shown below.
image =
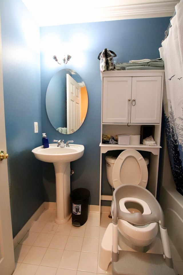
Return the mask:
[[[43,4],[42,1],[44,0],[22,1],[39,26],[53,26],[150,17],[171,17],[175,11],[175,5],[178,3],[177,0],[113,0],[113,4],[110,4],[111,0],[106,0],[105,3],[102,2],[102,0],[101,2],[100,0],[98,0],[98,2],[94,1],[92,5],[90,5],[87,4],[86,1],[82,0],[83,4],[77,5],[76,2],[73,2],[72,4],[72,2],[70,3],[69,1],[67,1],[67,5],[70,5],[70,7],[66,8],[66,10],[68,9],[69,11],[68,13],[66,12],[60,15],[60,12],[63,9],[60,0],[55,0],[58,1],[56,2],[57,5],[55,4],[57,7],[56,9],[54,6],[55,1],[53,1],[51,4],[49,3],[49,5],[53,5],[53,8],[47,5],[46,1]],[[126,5],[125,3],[130,4]],[[73,7],[73,9],[71,7]]]

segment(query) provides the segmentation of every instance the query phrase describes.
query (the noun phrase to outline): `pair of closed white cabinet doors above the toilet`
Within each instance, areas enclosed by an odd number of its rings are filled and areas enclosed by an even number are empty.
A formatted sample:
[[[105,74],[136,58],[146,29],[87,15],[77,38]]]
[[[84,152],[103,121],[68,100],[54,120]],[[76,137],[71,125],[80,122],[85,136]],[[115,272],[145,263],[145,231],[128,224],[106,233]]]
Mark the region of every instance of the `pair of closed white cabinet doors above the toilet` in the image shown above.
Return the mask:
[[[103,123],[160,123],[161,76],[104,77]]]

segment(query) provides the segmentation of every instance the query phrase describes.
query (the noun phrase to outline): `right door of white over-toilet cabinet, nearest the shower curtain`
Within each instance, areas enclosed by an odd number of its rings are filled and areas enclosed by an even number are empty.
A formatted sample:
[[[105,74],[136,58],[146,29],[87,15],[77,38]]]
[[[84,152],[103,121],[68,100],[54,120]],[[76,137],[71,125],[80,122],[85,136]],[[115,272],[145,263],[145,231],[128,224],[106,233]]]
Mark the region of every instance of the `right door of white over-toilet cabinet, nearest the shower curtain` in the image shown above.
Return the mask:
[[[132,78],[131,123],[160,123],[161,76]]]

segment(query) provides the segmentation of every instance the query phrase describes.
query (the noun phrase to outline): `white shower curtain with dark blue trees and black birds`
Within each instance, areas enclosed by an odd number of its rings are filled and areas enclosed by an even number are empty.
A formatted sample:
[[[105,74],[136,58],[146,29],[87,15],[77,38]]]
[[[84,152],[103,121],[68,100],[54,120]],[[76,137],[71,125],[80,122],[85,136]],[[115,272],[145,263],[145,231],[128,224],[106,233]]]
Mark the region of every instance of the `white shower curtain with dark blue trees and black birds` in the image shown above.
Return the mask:
[[[183,0],[175,11],[159,51],[165,67],[163,106],[168,153],[177,191],[183,195]]]

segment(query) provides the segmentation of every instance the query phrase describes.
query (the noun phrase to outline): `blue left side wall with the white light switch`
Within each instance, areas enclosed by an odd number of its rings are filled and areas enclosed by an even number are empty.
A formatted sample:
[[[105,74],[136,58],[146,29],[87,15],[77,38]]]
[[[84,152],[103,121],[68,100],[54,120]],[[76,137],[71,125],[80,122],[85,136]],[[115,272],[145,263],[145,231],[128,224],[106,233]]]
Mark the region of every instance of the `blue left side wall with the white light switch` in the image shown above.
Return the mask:
[[[3,87],[13,236],[43,203],[42,167],[31,152],[41,140],[40,37],[20,0],[1,0]],[[39,133],[34,133],[34,121]]]

